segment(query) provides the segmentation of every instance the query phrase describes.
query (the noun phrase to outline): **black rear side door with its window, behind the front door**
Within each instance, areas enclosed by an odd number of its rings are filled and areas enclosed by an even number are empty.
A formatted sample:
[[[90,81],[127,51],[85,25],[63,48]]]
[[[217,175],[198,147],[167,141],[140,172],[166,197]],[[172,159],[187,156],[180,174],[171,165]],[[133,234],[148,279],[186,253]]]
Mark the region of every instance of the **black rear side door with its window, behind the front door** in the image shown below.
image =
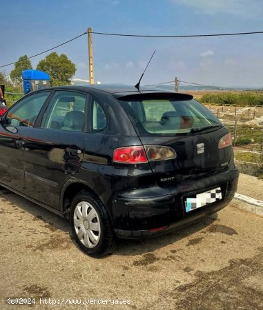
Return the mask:
[[[55,209],[63,185],[77,174],[84,157],[88,98],[57,90],[26,142],[26,192]]]

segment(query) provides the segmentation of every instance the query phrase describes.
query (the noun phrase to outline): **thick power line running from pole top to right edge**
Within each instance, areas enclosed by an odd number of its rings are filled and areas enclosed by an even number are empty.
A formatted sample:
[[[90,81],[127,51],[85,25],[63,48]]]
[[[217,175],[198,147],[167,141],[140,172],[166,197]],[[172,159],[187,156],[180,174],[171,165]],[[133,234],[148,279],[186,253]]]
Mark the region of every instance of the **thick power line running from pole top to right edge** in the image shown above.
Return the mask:
[[[246,34],[263,34],[263,31],[253,32],[233,32],[233,33],[217,33],[217,34],[186,34],[186,35],[156,35],[156,34],[120,34],[107,32],[91,32],[92,34],[101,34],[104,36],[115,37],[141,37],[141,38],[193,38],[193,37],[226,37],[226,36],[242,36]]]

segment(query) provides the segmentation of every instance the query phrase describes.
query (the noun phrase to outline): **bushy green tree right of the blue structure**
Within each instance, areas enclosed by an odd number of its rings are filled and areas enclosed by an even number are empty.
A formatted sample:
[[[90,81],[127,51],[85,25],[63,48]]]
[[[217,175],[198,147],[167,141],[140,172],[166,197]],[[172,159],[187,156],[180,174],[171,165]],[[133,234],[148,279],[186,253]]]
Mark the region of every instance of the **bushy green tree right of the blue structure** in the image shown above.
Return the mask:
[[[37,70],[46,72],[50,75],[50,85],[68,85],[70,79],[75,74],[77,68],[65,54],[60,56],[52,52],[46,59],[39,61]]]

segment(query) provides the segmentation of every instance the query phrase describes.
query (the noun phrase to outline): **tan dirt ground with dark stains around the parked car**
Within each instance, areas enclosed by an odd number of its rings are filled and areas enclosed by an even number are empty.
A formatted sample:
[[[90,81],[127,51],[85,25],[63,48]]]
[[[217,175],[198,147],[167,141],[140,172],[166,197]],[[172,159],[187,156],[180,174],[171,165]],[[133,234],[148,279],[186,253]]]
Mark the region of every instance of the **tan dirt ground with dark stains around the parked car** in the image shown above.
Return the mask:
[[[263,309],[263,218],[237,203],[95,259],[66,220],[0,189],[0,309]]]

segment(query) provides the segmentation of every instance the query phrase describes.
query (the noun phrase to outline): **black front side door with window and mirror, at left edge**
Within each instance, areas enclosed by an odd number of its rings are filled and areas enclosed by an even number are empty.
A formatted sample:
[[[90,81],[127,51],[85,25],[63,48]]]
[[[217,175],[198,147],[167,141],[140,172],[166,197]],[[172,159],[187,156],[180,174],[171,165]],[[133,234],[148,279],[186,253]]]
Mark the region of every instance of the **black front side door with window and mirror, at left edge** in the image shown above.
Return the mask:
[[[24,194],[24,150],[50,91],[29,94],[10,108],[0,125],[0,182]]]

